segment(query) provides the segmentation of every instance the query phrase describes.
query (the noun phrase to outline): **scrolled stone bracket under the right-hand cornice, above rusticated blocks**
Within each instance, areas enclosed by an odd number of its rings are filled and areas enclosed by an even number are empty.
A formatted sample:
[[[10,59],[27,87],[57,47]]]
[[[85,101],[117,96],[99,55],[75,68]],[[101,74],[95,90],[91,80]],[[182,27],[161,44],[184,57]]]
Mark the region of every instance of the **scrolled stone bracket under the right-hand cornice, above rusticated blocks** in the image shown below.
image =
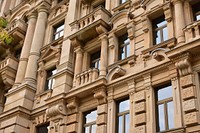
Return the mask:
[[[185,76],[192,73],[192,68],[189,59],[183,59],[175,64],[180,76]]]

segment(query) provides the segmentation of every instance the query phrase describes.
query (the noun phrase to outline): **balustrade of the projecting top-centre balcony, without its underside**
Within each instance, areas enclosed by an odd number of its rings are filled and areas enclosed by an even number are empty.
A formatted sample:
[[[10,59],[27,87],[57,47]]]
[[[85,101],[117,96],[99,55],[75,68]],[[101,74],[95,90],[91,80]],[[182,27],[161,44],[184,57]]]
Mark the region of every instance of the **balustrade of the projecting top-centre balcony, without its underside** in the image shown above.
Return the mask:
[[[110,19],[110,13],[105,8],[99,6],[93,12],[71,23],[70,26],[72,27],[73,30],[75,29],[76,31],[78,31],[95,23],[98,20],[103,20],[108,24],[109,19]]]

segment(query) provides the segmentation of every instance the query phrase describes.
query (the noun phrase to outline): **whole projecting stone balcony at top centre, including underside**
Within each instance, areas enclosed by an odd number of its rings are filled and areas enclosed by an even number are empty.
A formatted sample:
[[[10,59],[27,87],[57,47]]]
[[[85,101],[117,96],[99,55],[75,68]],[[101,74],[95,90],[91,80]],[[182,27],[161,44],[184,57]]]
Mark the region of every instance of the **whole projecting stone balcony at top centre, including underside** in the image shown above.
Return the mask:
[[[110,29],[109,20],[111,13],[105,8],[99,6],[93,12],[76,20],[70,24],[72,34],[69,38],[78,39],[81,42],[87,42],[97,37],[105,30]]]

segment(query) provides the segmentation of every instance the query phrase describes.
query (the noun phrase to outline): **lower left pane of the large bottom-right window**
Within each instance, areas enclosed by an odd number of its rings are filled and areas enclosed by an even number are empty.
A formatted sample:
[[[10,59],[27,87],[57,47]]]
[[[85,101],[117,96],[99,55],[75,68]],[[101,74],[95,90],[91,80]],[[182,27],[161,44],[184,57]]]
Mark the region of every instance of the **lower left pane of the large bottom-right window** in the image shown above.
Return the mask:
[[[158,124],[159,131],[165,130],[165,114],[164,114],[163,104],[158,105],[158,121],[159,121],[159,124]]]

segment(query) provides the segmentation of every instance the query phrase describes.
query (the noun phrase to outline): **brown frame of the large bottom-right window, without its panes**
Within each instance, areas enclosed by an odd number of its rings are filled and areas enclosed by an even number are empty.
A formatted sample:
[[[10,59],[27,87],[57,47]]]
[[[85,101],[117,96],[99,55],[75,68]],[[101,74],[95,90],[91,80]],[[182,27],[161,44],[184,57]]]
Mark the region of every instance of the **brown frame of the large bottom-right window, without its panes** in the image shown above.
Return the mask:
[[[171,97],[167,97],[165,99],[162,100],[158,100],[158,91],[165,89],[166,87],[171,86],[171,91],[172,91],[172,95]],[[174,101],[173,101],[173,88],[172,88],[172,84],[171,83],[166,83],[164,85],[158,86],[155,88],[155,106],[156,106],[156,132],[164,132],[164,131],[168,131],[171,130],[173,128],[169,128],[169,115],[168,115],[168,107],[167,104],[172,102],[173,103],[173,107],[174,107]],[[164,130],[160,130],[159,128],[159,105],[163,105],[164,108],[164,122],[165,122],[165,129]],[[173,110],[174,111],[174,110]],[[174,121],[175,122],[175,121]],[[175,125],[174,125],[175,126]]]

